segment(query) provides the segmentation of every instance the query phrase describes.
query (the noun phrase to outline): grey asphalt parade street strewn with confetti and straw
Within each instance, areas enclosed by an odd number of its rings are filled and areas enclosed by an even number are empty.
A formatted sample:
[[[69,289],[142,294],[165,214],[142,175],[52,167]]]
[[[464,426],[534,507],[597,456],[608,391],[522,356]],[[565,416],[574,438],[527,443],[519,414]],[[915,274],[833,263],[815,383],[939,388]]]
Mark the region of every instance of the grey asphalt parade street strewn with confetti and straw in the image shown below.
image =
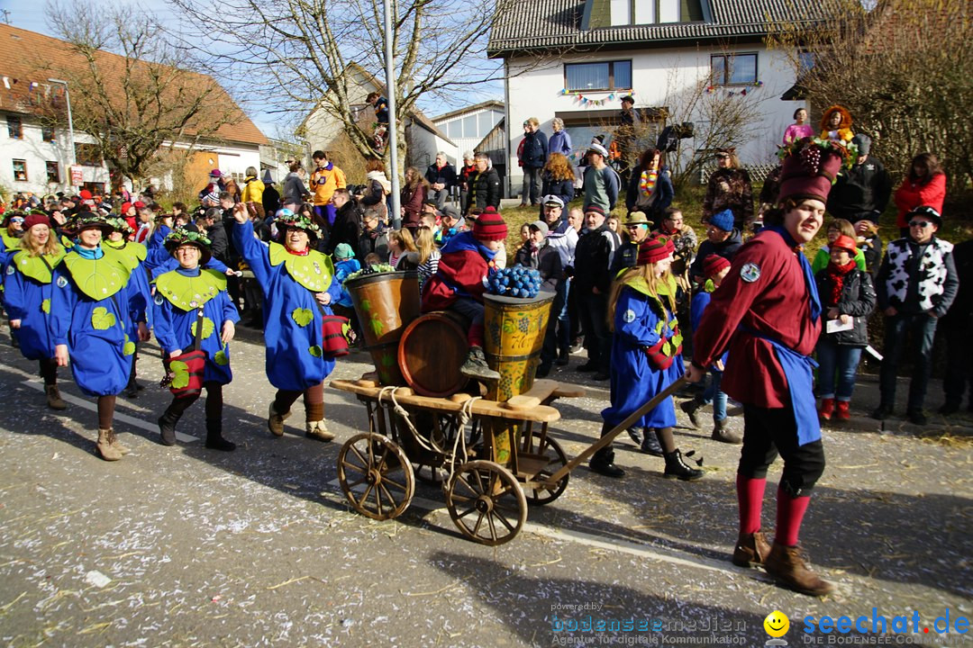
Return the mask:
[[[824,430],[828,464],[801,540],[838,590],[818,599],[730,563],[739,446],[709,439],[708,414],[697,430],[680,413],[676,429],[684,450],[705,456],[702,480],[663,479],[663,460],[623,434],[623,479],[580,466],[494,548],[458,532],[436,486],[418,484],[396,520],[354,512],[336,458],[367,429],[364,405],[326,389],[335,442],[305,437],[300,401],[273,438],[253,330],[239,331],[224,391],[235,452],[202,447],[201,401],[179,445],[163,447],[156,419],[171,396],[158,387],[159,358],[155,341],[140,351],[146,389],[120,397],[115,417],[132,452],[109,462],[94,454],[93,401],[70,372],[59,371],[68,409],[55,413],[36,363],[0,333],[3,645],[752,647],[771,639],[764,620],[779,610],[790,646],[973,646],[962,623],[973,615],[969,436]],[[552,378],[578,380],[579,358]],[[369,359],[340,359],[332,378],[358,378]],[[597,437],[606,386],[555,403],[553,434],[569,457]],[[765,530],[779,474],[778,461]],[[852,631],[835,630],[841,617]]]

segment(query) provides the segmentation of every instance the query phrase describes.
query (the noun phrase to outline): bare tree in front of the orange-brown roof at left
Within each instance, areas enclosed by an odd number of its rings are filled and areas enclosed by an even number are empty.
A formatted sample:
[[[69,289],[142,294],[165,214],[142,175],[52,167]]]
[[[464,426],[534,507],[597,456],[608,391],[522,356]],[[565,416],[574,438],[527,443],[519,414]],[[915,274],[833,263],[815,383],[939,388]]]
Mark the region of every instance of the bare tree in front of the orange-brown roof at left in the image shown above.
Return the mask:
[[[133,186],[160,171],[162,148],[170,149],[166,158],[185,156],[242,119],[220,85],[184,67],[185,55],[150,17],[83,0],[51,3],[47,14],[70,53],[51,59],[37,52],[35,66],[67,81],[75,129],[88,133],[109,169]],[[66,121],[58,105],[46,117]]]

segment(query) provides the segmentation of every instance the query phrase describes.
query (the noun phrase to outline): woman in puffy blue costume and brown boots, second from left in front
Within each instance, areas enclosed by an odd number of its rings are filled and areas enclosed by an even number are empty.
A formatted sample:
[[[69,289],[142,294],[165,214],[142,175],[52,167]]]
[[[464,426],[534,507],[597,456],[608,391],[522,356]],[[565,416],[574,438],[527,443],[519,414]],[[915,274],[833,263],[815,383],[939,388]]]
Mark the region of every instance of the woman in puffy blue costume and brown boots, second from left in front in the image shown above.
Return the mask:
[[[98,441],[101,458],[122,459],[127,453],[115,438],[115,398],[125,389],[135,342],[126,324],[138,325],[138,339],[149,339],[145,294],[129,282],[126,265],[101,248],[101,237],[113,227],[91,212],[70,223],[75,243],[54,268],[51,293],[54,358],[67,366],[82,392],[98,399]]]

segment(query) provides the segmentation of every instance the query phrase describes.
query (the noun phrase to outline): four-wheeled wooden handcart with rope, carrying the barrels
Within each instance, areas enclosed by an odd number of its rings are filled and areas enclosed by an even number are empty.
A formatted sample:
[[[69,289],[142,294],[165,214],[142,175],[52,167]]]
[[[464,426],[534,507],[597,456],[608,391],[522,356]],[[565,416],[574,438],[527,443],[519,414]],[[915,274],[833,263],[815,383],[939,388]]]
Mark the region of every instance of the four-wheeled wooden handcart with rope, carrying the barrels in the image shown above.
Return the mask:
[[[421,396],[410,388],[382,388],[363,377],[332,381],[368,410],[369,431],[342,446],[338,478],[352,507],[370,518],[400,515],[414,480],[442,484],[456,527],[487,545],[512,540],[523,528],[527,504],[554,501],[567,487],[568,463],[548,426],[560,419],[551,403],[584,395],[553,380],[506,402],[456,393]]]

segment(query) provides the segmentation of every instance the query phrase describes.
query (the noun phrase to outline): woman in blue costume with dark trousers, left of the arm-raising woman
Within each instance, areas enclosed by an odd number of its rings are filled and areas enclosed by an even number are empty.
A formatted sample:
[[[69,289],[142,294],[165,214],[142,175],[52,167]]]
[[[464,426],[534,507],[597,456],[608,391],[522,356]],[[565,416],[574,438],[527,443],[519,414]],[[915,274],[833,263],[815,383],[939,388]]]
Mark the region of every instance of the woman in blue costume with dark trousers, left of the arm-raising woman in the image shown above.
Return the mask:
[[[165,238],[165,249],[179,267],[156,280],[153,322],[162,352],[177,359],[194,347],[201,311],[199,348],[206,352],[202,386],[206,390],[206,447],[231,451],[236,445],[223,438],[223,386],[234,379],[230,348],[240,317],[227,293],[227,277],[204,270],[210,241],[198,232],[177,228]],[[217,325],[218,324],[218,325]],[[159,419],[162,445],[176,443],[176,423],[199,397],[199,392],[177,395]]]

